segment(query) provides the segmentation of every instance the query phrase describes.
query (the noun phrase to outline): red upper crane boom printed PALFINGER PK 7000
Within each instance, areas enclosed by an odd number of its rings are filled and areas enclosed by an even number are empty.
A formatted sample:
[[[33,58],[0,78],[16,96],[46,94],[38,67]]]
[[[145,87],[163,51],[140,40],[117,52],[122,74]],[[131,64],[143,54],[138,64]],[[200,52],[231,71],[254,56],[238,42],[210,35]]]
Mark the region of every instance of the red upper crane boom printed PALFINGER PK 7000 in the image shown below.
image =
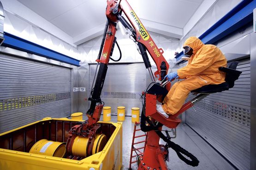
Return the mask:
[[[127,21],[125,21],[124,17],[121,16],[122,12],[124,12],[125,16],[128,18],[132,27],[130,26],[129,23],[127,23]],[[150,56],[152,57],[152,59],[154,60],[157,67],[157,71],[155,72],[154,75],[157,79],[162,80],[164,75],[167,74],[167,70],[169,68],[168,62],[163,57],[164,51],[161,48],[158,48],[156,46],[154,40],[149,35],[148,31],[145,29],[140,19],[137,17],[136,13],[132,10],[127,0],[119,0],[119,1],[108,0],[106,15],[108,20],[110,21],[109,29],[111,29],[112,31],[113,31],[113,26],[111,25],[114,25],[113,23],[116,23],[119,20],[125,26],[126,29],[130,29],[131,32],[134,33],[133,38],[135,39],[135,41],[137,42],[137,45],[139,46],[146,68],[151,67],[149,58],[147,57],[147,53],[146,53],[146,50],[147,50]],[[114,37],[114,34],[113,34],[113,37]],[[112,45],[112,43],[113,41],[106,39],[104,49],[101,55],[101,62],[104,62],[107,64],[108,57],[109,57],[108,54],[110,54],[109,50],[111,49],[107,45],[108,44]]]

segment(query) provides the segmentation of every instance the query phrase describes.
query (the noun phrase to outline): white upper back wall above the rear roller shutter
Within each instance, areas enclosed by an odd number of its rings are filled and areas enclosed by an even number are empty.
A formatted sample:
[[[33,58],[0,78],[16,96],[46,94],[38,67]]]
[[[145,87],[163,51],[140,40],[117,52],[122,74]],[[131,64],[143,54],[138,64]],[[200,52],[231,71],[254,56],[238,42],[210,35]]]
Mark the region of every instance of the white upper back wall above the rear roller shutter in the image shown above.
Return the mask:
[[[168,38],[161,34],[155,34],[152,32],[149,32],[149,34],[155,41],[155,44],[158,46],[158,48],[162,48],[164,50],[163,56],[166,58],[166,60],[172,60],[174,58],[175,51],[179,51],[179,40]],[[122,51],[122,59],[119,62],[143,62],[141,55],[137,51],[136,44],[131,39],[129,39],[128,35],[123,35],[121,34],[121,31],[118,30],[116,37]],[[102,36],[99,36],[93,40],[77,46],[80,52],[83,51],[81,54],[83,56],[83,58],[81,58],[82,63],[95,62],[99,54],[101,40]],[[113,58],[119,58],[119,51],[117,46],[114,48]],[[149,59],[150,58],[151,57],[149,56]],[[110,60],[110,62],[112,61]],[[153,60],[151,60],[151,64],[153,65]]]

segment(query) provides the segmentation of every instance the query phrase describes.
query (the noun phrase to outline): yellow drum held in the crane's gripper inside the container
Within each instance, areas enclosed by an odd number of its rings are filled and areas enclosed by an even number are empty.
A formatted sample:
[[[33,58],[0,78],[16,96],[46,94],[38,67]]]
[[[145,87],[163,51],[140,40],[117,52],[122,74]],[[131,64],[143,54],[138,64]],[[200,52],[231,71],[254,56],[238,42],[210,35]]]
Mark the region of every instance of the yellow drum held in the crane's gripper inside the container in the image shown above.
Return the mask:
[[[107,136],[104,134],[96,134],[93,146],[89,145],[88,137],[77,136],[72,145],[72,155],[81,157],[90,156],[91,154],[101,152],[106,143]]]

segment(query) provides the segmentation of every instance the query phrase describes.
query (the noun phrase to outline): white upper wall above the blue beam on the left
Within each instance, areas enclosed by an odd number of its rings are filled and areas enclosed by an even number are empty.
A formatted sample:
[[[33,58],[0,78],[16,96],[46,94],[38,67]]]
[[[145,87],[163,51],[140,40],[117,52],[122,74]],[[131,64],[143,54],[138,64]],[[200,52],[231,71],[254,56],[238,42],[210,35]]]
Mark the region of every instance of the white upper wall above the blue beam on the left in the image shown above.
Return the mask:
[[[73,38],[31,11],[17,0],[1,0],[4,7],[4,31],[42,45],[69,57],[80,59]]]

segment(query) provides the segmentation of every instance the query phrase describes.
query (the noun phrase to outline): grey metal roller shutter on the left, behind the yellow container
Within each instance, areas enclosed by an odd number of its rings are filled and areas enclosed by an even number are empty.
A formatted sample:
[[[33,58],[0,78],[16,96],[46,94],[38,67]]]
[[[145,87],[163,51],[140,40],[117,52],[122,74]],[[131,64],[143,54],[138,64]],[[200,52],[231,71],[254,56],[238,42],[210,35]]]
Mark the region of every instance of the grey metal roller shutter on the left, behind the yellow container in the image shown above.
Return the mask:
[[[70,113],[70,68],[0,54],[0,133]]]

